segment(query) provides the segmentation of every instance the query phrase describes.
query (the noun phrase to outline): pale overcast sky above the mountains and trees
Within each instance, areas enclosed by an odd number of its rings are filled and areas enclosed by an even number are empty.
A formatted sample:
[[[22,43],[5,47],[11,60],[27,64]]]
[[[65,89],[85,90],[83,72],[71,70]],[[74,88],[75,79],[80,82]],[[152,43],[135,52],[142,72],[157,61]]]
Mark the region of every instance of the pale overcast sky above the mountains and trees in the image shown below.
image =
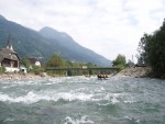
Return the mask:
[[[0,14],[36,31],[66,32],[108,59],[131,59],[144,32],[162,25],[165,0],[1,0]]]

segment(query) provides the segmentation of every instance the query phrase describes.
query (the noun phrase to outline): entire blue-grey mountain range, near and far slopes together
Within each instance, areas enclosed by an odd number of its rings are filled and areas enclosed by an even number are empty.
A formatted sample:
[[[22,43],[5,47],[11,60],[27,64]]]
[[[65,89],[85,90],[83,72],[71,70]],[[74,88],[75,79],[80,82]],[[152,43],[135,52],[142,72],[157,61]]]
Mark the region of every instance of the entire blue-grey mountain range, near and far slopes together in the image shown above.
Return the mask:
[[[110,66],[110,60],[80,46],[68,34],[43,27],[40,32],[6,20],[0,15],[0,47],[6,47],[9,33],[14,50],[21,56],[36,56],[47,59],[58,54],[70,61],[92,63]]]

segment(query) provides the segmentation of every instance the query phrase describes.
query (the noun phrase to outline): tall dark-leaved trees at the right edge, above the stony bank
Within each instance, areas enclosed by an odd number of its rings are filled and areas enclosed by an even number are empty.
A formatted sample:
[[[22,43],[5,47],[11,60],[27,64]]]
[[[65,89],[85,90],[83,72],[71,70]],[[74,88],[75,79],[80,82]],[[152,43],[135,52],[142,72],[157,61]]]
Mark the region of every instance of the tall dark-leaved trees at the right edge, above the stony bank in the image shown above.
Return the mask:
[[[138,50],[139,63],[148,65],[153,77],[165,78],[165,20],[154,33],[144,33]]]

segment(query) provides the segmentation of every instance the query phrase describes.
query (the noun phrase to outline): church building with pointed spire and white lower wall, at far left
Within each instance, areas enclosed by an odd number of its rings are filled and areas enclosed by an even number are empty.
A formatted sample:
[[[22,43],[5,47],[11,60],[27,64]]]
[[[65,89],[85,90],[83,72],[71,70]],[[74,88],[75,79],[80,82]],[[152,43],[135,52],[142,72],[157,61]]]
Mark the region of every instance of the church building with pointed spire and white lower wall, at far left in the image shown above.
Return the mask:
[[[20,70],[20,58],[13,50],[10,35],[7,47],[0,49],[0,66],[6,68],[6,72],[14,72]]]

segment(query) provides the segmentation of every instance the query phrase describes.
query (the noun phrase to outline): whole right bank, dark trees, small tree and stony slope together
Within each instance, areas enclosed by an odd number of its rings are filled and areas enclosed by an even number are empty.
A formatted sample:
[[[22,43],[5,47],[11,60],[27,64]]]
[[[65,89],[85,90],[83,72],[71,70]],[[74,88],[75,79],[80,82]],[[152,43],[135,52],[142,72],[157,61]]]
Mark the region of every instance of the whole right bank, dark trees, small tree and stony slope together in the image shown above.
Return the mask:
[[[165,78],[165,20],[154,33],[144,33],[139,42],[138,52],[138,65],[144,67],[125,69],[132,63],[129,60],[127,64],[124,55],[119,54],[112,65],[122,70],[120,75]]]

